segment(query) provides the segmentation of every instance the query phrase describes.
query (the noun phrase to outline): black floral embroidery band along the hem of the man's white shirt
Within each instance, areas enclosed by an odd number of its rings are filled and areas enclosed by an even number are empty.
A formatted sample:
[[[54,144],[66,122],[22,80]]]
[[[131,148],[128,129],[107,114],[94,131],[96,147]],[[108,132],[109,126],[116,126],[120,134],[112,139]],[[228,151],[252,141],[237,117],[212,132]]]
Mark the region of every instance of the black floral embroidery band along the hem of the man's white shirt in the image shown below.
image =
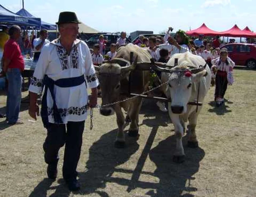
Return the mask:
[[[68,107],[68,108],[59,108],[59,114],[61,117],[66,117],[68,115],[83,115],[87,112],[89,108],[89,103],[82,107]],[[53,108],[48,107],[48,115],[53,116]]]

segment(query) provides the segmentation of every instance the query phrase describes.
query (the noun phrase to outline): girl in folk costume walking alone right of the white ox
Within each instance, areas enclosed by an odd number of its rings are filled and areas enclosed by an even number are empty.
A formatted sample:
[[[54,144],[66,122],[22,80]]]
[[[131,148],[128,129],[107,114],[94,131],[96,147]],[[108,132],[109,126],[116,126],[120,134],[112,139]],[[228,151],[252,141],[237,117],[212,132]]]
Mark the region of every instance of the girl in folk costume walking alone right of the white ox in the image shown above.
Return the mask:
[[[214,101],[217,102],[217,106],[221,106],[224,103],[224,95],[227,90],[227,85],[232,85],[234,83],[233,68],[235,63],[227,55],[227,49],[223,48],[220,52],[220,57],[212,60],[212,65],[214,66],[211,67],[211,70],[213,71],[217,68],[214,95]]]

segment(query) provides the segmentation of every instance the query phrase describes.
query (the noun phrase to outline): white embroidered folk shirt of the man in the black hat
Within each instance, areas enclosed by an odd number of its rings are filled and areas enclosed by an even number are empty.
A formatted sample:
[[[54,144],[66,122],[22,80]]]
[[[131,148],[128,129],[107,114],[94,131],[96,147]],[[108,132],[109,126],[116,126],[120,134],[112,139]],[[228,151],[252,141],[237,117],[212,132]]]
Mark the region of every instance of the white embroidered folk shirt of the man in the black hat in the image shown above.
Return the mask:
[[[54,85],[56,105],[63,123],[84,121],[87,118],[87,109],[89,107],[87,86],[95,88],[99,84],[87,44],[76,39],[72,45],[70,55],[60,44],[59,39],[46,44],[42,48],[31,79],[30,92],[41,93],[42,80],[45,75],[48,75],[54,81],[84,75],[86,82],[79,86],[63,88]],[[54,123],[53,99],[49,89],[47,91],[47,107],[48,120],[50,123]]]

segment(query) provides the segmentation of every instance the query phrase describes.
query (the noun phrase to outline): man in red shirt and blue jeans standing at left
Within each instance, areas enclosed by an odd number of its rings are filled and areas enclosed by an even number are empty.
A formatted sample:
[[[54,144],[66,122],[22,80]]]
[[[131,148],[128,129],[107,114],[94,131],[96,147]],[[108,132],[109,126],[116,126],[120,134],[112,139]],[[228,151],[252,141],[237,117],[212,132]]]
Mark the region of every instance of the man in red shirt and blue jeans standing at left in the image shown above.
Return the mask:
[[[12,25],[9,29],[10,39],[4,45],[4,72],[8,79],[6,120],[8,124],[23,124],[19,120],[21,101],[21,72],[24,70],[24,59],[17,41],[20,38],[21,29],[18,25]]]

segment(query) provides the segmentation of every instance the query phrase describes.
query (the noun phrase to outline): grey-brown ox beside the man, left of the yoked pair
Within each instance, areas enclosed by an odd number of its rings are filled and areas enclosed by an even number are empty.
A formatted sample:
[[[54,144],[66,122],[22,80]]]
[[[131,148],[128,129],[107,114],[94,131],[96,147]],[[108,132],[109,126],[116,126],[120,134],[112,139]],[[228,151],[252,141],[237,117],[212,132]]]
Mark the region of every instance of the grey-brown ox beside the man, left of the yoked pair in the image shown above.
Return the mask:
[[[133,52],[132,62],[134,62],[132,65],[130,64],[131,52]],[[118,132],[115,146],[118,148],[123,148],[125,146],[125,118],[121,108],[127,111],[129,119],[131,120],[128,135],[131,137],[138,137],[139,112],[142,98],[133,98],[129,101],[117,103],[112,106],[104,107],[104,105],[128,98],[125,93],[129,93],[128,80],[130,72],[135,69],[136,62],[150,62],[150,58],[152,57],[147,50],[133,44],[128,44],[127,46],[118,49],[114,59],[107,63],[103,63],[101,66],[94,66],[95,70],[98,71],[98,79],[101,87],[102,106],[100,108],[100,113],[105,116],[116,113]],[[149,71],[133,71],[131,77],[133,80],[136,79],[138,84],[140,84],[139,86],[134,84],[131,87],[133,93],[141,93],[147,90],[150,79]]]

